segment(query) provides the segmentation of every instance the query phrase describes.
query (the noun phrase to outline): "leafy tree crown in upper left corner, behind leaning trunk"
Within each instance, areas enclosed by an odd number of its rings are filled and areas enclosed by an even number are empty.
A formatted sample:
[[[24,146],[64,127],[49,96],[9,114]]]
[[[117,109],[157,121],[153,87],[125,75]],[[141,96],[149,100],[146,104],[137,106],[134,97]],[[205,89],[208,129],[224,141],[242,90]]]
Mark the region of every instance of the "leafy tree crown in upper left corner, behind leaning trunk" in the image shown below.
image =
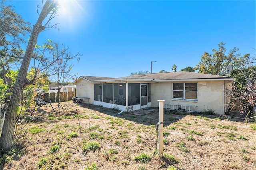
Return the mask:
[[[8,2],[10,1],[0,1],[0,69],[20,62],[24,53],[20,45],[26,42],[25,36],[31,32],[29,23],[16,13]]]

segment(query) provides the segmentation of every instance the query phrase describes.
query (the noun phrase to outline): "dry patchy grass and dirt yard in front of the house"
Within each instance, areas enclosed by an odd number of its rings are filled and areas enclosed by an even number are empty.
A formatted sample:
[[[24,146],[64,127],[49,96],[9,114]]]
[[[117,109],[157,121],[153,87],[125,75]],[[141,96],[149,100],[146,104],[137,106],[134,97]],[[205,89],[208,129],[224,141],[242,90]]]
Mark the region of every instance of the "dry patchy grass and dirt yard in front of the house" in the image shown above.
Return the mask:
[[[256,130],[251,128],[256,125],[245,123],[238,113],[230,117],[165,110],[160,157],[158,108],[117,115],[115,109],[85,103],[63,102],[60,111],[52,105],[55,112],[49,104],[36,107],[34,121],[20,121],[15,132],[22,148],[2,169],[256,170]],[[85,152],[84,146],[93,141],[100,149]],[[138,158],[142,153],[148,162]]]

